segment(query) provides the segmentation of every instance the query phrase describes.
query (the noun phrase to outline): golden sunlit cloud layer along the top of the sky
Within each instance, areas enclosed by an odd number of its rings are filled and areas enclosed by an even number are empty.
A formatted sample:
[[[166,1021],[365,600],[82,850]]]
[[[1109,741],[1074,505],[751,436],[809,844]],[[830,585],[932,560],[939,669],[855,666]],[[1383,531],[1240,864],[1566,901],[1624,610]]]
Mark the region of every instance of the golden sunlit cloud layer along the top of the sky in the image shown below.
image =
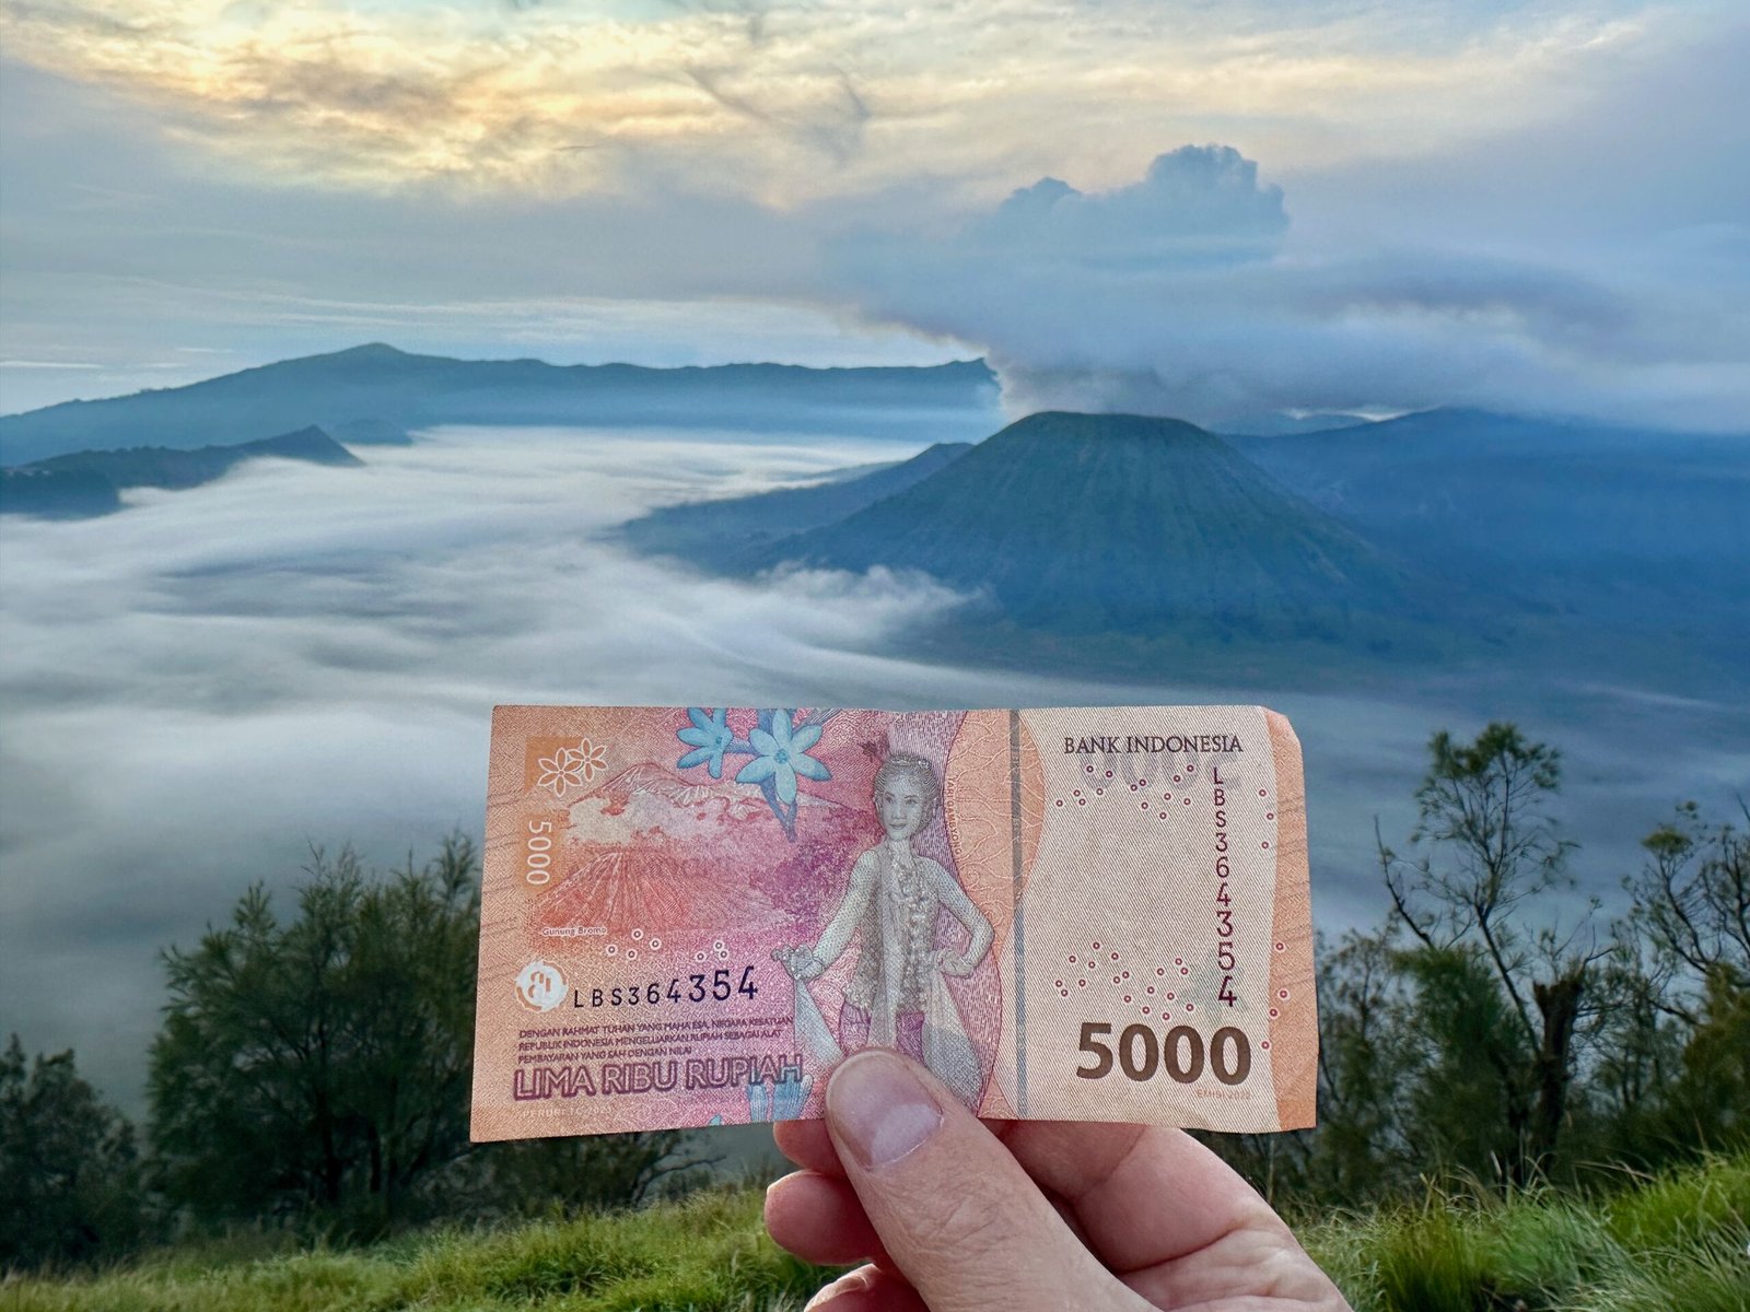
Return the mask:
[[[1309,161],[1349,157],[1363,124],[1419,154],[1536,119],[1673,21],[1633,0],[0,7],[14,59],[117,89],[226,171],[564,196],[662,159],[775,205],[1088,156],[1111,180],[1134,142],[1199,121]]]

